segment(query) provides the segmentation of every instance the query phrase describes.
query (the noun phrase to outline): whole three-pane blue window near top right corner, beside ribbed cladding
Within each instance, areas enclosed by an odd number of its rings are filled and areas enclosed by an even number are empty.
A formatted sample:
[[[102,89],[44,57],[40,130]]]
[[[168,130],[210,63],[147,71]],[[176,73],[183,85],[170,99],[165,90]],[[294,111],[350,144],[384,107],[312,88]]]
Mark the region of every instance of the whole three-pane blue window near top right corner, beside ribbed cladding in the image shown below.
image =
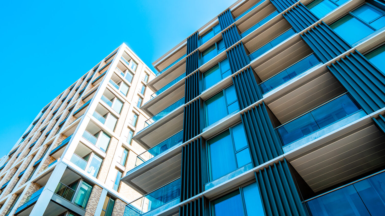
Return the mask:
[[[384,13],[365,3],[330,25],[346,42],[354,44],[385,26]]]

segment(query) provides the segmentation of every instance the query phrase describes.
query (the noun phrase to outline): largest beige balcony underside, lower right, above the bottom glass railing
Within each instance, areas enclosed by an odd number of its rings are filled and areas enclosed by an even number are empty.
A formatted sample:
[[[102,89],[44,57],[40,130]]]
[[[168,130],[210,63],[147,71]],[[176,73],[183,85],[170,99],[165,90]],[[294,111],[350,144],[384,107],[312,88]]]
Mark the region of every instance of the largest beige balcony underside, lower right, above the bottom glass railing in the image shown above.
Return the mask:
[[[322,191],[385,165],[385,136],[369,116],[285,154],[314,191]]]

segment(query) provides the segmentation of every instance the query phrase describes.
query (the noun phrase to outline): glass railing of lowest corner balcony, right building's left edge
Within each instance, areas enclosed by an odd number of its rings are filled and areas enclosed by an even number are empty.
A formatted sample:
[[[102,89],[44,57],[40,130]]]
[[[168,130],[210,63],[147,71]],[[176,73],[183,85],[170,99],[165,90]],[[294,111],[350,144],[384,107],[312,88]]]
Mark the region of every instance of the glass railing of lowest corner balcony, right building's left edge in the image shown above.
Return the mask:
[[[167,204],[178,204],[181,197],[181,178],[158,188],[126,205],[124,216],[140,216]]]

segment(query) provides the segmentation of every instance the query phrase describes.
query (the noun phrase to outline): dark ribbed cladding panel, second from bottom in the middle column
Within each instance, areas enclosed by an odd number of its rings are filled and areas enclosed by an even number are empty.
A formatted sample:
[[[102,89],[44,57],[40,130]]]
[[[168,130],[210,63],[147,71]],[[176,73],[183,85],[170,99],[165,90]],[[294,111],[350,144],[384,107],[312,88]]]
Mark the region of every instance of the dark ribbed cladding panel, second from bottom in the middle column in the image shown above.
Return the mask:
[[[283,155],[280,139],[264,102],[247,110],[241,119],[254,167]]]

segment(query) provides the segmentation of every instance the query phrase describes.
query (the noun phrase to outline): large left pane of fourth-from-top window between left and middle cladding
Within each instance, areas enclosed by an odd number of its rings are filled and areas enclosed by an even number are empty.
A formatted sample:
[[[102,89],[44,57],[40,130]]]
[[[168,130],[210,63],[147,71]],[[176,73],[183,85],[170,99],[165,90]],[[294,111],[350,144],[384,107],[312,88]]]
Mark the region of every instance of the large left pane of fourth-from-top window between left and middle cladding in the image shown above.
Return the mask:
[[[209,100],[205,101],[206,105],[206,126],[221,120],[227,115],[226,101],[223,93],[219,93]]]

